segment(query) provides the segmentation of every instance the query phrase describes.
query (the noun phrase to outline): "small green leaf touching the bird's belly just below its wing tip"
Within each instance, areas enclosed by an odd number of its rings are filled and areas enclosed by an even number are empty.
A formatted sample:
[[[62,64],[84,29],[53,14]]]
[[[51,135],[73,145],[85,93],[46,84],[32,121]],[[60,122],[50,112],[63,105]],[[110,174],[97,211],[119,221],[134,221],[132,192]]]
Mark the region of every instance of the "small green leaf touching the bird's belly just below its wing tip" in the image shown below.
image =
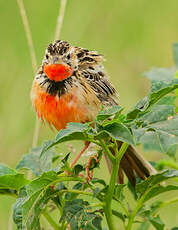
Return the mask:
[[[96,116],[96,121],[104,121],[105,119],[120,113],[123,108],[119,105],[113,106],[109,109],[104,109],[99,111],[98,115]]]

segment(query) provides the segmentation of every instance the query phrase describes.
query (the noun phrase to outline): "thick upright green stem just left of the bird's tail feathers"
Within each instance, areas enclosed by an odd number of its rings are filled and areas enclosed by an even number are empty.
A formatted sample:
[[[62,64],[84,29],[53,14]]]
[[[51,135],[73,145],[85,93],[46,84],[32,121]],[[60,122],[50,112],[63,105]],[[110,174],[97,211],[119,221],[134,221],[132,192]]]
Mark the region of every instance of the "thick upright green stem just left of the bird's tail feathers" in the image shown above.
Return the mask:
[[[117,145],[117,142],[115,143],[115,145]],[[106,145],[103,147],[105,147],[104,149],[107,149]],[[117,147],[117,146],[115,146],[115,147]],[[114,157],[114,161],[112,164],[111,178],[110,178],[110,182],[109,182],[109,188],[108,188],[108,191],[106,193],[106,203],[105,203],[105,208],[104,208],[106,220],[107,220],[108,227],[110,230],[116,229],[114,226],[114,222],[113,222],[111,204],[112,204],[112,198],[113,198],[115,184],[116,184],[116,180],[117,180],[117,176],[118,176],[120,160],[122,159],[127,148],[128,148],[128,144],[123,143],[120,150],[116,151],[116,155]]]

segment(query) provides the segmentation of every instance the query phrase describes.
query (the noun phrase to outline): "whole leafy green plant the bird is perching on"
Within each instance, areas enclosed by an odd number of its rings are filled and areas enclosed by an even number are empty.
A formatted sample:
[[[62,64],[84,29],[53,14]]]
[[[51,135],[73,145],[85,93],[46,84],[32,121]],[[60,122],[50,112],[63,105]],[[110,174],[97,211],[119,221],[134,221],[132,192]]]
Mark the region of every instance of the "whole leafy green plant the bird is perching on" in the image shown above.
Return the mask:
[[[126,230],[133,229],[134,225],[140,230],[149,229],[150,225],[158,230],[164,229],[159,210],[177,202],[178,197],[154,202],[152,198],[178,190],[175,179],[178,177],[175,170],[178,168],[178,116],[177,92],[174,91],[178,88],[178,79],[174,72],[156,68],[146,73],[151,79],[149,94],[128,113],[124,113],[120,106],[108,110],[102,108],[92,126],[91,123],[69,123],[54,140],[25,154],[16,170],[0,164],[0,193],[16,198],[13,219],[17,229],[41,229],[41,216],[53,229],[120,229],[117,219]],[[99,162],[93,159],[90,170],[100,167],[104,152],[108,155],[112,162],[109,182],[98,177],[87,182],[81,175],[85,173],[85,163],[71,169],[70,153],[63,155],[55,151],[56,145],[72,140],[90,141],[96,145]],[[117,150],[117,140],[123,142],[120,150]],[[145,181],[138,180],[135,188],[129,183],[118,185],[120,160],[128,145],[138,144],[167,154],[170,160],[154,162],[154,165],[158,170],[167,166],[171,169],[160,171]],[[116,150],[115,156],[110,147]],[[28,173],[20,171],[24,168],[32,171],[32,179],[28,179]],[[168,180],[169,183],[162,183]],[[127,188],[135,199],[132,209],[126,205],[124,193]],[[104,219],[107,224],[103,223]]]

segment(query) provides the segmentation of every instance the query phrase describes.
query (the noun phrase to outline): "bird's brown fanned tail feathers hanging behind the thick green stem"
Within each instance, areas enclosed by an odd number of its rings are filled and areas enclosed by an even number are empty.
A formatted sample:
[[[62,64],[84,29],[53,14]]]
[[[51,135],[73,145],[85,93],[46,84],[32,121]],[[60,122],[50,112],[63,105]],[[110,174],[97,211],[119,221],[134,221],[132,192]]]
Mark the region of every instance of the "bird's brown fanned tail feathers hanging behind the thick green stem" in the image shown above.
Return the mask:
[[[118,141],[118,148],[120,148],[122,142]],[[110,149],[114,155],[114,150]],[[109,171],[112,170],[112,163],[108,156],[105,154],[105,159],[107,162],[107,166]],[[127,151],[125,152],[124,156],[121,159],[119,172],[118,172],[118,179],[117,182],[120,184],[124,183],[124,174],[128,177],[130,183],[135,187],[136,184],[136,174],[142,180],[146,179],[147,177],[156,174],[156,169],[146,160],[144,157],[138,153],[133,146],[129,146]]]

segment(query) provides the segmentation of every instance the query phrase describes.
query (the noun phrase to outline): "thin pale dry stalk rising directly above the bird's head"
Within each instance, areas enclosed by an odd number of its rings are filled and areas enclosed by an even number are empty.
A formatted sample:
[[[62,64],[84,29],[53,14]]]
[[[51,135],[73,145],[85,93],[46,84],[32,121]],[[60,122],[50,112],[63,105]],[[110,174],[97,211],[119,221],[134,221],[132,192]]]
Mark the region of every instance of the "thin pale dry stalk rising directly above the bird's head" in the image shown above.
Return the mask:
[[[61,28],[62,28],[62,23],[64,19],[66,3],[67,3],[67,0],[60,1],[60,9],[59,9],[59,15],[57,18],[57,25],[56,25],[56,32],[55,32],[54,40],[59,39],[61,35]]]

